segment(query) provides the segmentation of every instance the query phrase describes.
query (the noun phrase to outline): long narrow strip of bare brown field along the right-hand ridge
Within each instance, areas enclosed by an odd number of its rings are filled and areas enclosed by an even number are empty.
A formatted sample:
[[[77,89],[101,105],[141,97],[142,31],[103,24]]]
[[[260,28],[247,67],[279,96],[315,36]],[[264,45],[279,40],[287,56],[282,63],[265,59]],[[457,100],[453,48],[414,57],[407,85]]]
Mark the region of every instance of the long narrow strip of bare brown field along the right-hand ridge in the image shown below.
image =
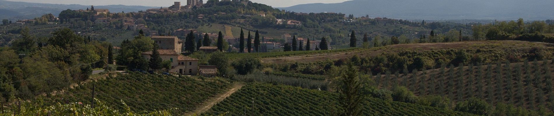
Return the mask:
[[[330,53],[323,55],[310,55],[299,57],[264,58],[264,63],[294,63],[294,62],[319,62],[327,59],[343,59],[352,56],[377,56],[382,53],[396,53],[401,51],[432,51],[439,49],[509,49],[509,48],[530,48],[530,47],[554,47],[547,43],[524,42],[524,41],[465,41],[450,43],[414,43],[391,45],[360,49],[352,52]]]

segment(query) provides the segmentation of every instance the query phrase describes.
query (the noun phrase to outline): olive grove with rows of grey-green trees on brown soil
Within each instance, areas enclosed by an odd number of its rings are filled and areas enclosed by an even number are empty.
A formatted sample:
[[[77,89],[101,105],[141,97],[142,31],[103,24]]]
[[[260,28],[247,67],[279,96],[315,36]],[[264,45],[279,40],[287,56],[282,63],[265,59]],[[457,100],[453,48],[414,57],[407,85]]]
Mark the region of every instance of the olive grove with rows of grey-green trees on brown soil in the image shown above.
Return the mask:
[[[404,72],[407,72],[405,70]],[[537,109],[554,101],[552,92],[552,61],[439,68],[386,73],[374,76],[381,88],[406,86],[418,96],[444,95],[453,102],[481,98],[489,103],[507,103]]]

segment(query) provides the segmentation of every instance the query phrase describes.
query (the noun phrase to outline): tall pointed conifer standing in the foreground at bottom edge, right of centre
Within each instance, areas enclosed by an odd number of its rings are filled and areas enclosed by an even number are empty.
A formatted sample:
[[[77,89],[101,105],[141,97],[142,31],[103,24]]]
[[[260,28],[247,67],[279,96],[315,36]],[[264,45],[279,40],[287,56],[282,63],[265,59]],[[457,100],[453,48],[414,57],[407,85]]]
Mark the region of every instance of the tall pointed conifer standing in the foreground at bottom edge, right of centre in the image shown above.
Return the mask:
[[[361,115],[361,102],[363,95],[360,80],[357,78],[357,69],[352,65],[348,65],[346,70],[342,71],[340,78],[340,86],[338,92],[341,93],[340,101],[343,108],[342,115]]]

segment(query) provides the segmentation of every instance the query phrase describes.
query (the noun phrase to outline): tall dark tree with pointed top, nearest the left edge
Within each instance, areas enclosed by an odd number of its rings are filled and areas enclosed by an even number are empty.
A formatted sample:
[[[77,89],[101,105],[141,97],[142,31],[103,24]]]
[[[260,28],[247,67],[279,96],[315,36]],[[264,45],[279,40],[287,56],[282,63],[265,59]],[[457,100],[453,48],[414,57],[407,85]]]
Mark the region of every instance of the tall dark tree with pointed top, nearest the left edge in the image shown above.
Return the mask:
[[[37,49],[35,37],[29,34],[29,28],[27,26],[21,29],[19,34],[21,34],[22,38],[15,39],[12,42],[12,49],[16,50],[16,53],[27,54]]]

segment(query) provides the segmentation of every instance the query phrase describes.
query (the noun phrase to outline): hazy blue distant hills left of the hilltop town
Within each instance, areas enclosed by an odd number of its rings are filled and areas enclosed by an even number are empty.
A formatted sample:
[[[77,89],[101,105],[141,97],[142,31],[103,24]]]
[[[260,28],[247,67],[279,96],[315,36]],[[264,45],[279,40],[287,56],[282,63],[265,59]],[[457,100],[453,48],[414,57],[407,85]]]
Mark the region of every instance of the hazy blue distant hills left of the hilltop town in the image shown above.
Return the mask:
[[[55,16],[58,16],[61,10],[78,10],[86,8],[90,8],[90,5],[45,4],[0,0],[0,19],[32,19],[48,13],[52,13]],[[146,10],[158,7],[145,7],[139,5],[95,5],[94,8],[110,9],[110,12],[137,12],[139,10]]]

